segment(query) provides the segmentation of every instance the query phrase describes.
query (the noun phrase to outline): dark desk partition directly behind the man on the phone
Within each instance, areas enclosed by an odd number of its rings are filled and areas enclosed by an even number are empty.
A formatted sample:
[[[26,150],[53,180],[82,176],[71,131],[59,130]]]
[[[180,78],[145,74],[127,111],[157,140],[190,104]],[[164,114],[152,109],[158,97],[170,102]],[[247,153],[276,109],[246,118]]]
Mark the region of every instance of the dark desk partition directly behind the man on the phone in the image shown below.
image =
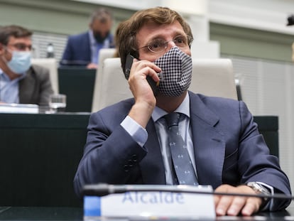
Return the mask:
[[[89,114],[0,114],[0,207],[82,206],[72,180],[88,120]],[[278,148],[278,117],[254,120],[270,149]]]

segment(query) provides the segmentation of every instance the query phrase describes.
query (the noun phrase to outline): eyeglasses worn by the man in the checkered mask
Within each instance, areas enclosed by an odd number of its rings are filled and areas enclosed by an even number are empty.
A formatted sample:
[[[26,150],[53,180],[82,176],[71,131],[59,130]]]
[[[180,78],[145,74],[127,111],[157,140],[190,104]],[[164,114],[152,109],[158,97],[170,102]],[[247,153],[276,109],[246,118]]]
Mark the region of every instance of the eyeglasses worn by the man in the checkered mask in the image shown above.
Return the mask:
[[[185,48],[192,44],[193,38],[190,36],[177,36],[175,39],[170,40],[175,43],[179,48]],[[168,48],[168,43],[170,41],[164,41],[163,39],[154,39],[148,45],[145,45],[141,48],[148,48],[153,53],[160,53],[163,52],[166,48]],[[138,48],[140,50],[141,48]]]

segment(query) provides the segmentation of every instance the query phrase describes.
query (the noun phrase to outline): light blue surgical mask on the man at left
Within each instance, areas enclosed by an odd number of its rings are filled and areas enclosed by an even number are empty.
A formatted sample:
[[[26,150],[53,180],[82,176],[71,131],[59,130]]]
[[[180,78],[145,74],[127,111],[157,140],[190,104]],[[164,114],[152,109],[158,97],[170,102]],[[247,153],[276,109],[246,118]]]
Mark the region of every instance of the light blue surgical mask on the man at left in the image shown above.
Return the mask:
[[[17,74],[25,73],[31,67],[31,52],[30,51],[12,51],[12,58],[7,62],[10,70]]]

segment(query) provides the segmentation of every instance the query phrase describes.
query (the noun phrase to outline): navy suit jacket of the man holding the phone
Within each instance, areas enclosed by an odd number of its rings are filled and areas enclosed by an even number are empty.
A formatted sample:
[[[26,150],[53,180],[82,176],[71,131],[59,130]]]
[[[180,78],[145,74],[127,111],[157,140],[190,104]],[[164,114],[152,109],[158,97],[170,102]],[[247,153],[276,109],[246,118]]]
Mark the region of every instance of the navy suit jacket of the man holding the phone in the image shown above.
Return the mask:
[[[278,158],[269,154],[263,136],[244,102],[189,92],[190,124],[200,185],[241,185],[260,181],[290,195],[290,184]],[[165,169],[152,118],[141,148],[120,123],[134,99],[93,113],[87,144],[75,176],[75,190],[89,183],[165,184]],[[273,210],[290,200],[276,201]]]

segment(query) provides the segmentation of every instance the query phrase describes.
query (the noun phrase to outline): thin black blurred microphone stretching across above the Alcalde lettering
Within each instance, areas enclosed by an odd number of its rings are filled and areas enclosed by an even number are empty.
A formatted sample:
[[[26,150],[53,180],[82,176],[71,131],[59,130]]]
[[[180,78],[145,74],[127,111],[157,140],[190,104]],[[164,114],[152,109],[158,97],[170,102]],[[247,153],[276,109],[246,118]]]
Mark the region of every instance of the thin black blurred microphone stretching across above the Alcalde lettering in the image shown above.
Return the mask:
[[[257,197],[257,198],[271,198],[271,199],[286,199],[293,200],[293,195],[285,195],[283,193],[275,193],[273,195],[247,194],[247,193],[221,193],[209,192],[201,190],[201,185],[111,185],[106,183],[85,185],[82,189],[82,195],[104,196],[114,193],[126,192],[172,192],[172,193],[195,193],[208,195],[229,195],[241,197]]]

